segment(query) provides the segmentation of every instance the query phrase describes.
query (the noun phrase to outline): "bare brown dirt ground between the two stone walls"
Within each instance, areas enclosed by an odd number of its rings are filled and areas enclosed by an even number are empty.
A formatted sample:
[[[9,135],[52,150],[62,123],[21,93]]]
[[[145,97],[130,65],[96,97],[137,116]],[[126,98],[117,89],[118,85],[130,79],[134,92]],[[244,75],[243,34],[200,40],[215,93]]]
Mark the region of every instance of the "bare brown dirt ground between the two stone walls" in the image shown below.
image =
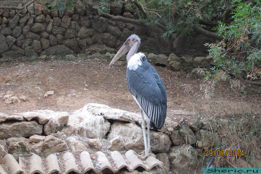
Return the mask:
[[[109,66],[109,60],[36,61],[2,64],[0,67],[0,112],[15,114],[32,110],[73,112],[88,103],[105,104],[139,113],[140,109],[128,90],[126,61]],[[176,110],[191,111],[186,119],[197,116],[230,115],[252,112],[261,114],[261,88],[246,85],[244,93],[230,88],[228,81],[214,87],[214,98],[206,100],[200,91],[202,79],[192,79],[184,71],[155,67],[167,90],[167,117],[176,121]],[[6,104],[4,95],[26,96],[26,101]],[[47,91],[54,95],[44,97]],[[194,113],[195,112],[195,113]]]

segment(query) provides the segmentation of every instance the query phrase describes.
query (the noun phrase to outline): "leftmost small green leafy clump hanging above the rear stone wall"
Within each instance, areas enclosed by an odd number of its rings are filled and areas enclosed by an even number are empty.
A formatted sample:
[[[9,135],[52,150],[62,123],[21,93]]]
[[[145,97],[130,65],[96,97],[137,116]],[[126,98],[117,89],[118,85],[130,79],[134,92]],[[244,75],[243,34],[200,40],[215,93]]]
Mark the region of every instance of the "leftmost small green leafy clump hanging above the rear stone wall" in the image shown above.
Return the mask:
[[[71,10],[74,5],[75,0],[54,0],[48,7],[63,13],[64,10]]]

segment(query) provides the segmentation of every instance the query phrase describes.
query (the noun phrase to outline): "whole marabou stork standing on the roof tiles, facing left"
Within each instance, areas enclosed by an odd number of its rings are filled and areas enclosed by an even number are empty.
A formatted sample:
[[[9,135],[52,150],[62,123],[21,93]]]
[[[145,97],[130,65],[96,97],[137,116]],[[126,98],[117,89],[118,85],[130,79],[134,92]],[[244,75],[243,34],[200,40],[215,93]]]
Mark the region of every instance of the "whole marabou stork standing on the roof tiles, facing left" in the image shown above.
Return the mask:
[[[149,155],[153,155],[150,146],[150,127],[158,130],[161,129],[165,123],[167,115],[167,95],[164,83],[155,68],[147,61],[143,53],[137,53],[139,46],[139,36],[135,34],[131,35],[114,56],[110,65],[128,52],[127,83],[134,100],[140,106],[145,145],[145,151],[136,155],[140,159],[145,159]],[[148,144],[146,141],[144,116],[146,116],[147,121]]]

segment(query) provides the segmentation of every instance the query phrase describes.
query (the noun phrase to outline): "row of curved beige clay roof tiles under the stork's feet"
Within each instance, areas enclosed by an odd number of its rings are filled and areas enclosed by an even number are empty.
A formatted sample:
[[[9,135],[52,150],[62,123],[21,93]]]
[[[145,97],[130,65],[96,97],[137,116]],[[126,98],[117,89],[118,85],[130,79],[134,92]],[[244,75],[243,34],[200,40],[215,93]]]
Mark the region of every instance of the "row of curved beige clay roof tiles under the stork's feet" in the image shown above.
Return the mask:
[[[62,172],[68,174],[70,172],[87,173],[90,171],[95,173],[118,173],[124,168],[129,170],[129,172],[133,172],[137,167],[142,167],[144,170],[150,171],[152,168],[160,166],[160,162],[154,156],[149,156],[145,160],[140,160],[133,150],[129,150],[124,154],[123,152],[120,153],[118,151],[106,154],[103,152],[96,152],[95,154],[92,154],[96,156],[94,159],[91,159],[90,154],[86,151],[81,152],[79,156],[77,153],[75,155],[71,152],[66,152],[62,156],[62,160],[59,161],[54,154],[48,155],[45,159],[43,159],[42,156],[41,158],[38,155],[32,155],[29,158],[29,165],[26,166],[23,162],[26,161],[25,158],[19,157],[18,164],[13,155],[7,154],[4,156],[4,167],[8,167],[11,174],[25,174],[24,170],[30,171],[30,174],[43,174],[44,172],[46,174],[61,174]],[[46,163],[43,164],[43,160],[46,161]],[[3,171],[4,169],[0,166],[0,173],[6,174],[6,172],[4,173]]]

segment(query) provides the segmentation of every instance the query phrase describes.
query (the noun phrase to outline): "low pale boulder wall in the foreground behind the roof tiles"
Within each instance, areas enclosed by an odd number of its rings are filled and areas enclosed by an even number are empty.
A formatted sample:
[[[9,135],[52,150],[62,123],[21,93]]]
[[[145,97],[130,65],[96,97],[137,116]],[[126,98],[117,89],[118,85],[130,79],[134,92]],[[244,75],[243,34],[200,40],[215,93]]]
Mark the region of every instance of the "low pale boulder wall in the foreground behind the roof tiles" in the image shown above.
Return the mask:
[[[186,118],[195,113],[176,110],[175,114]],[[217,127],[208,117],[198,120],[187,117],[179,123],[167,118],[160,131],[150,131],[151,150],[168,171],[190,173],[201,163],[197,153],[204,153],[204,149],[220,142],[217,132],[209,127],[210,122]],[[44,155],[108,149],[144,149],[140,114],[91,103],[70,114],[52,110],[0,113],[0,156],[4,152]],[[202,165],[208,162],[205,159]]]

